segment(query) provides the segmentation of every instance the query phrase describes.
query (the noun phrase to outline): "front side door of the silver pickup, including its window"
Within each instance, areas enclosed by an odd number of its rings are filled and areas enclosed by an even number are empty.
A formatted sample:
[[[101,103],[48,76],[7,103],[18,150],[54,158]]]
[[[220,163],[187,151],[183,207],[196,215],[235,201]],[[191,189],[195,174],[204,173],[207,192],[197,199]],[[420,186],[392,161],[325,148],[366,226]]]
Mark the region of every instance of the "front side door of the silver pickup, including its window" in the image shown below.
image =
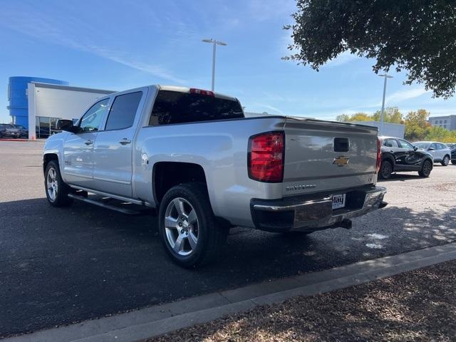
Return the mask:
[[[108,109],[109,98],[90,107],[79,120],[80,133],[70,133],[63,144],[63,179],[73,185],[92,187],[93,144]]]

